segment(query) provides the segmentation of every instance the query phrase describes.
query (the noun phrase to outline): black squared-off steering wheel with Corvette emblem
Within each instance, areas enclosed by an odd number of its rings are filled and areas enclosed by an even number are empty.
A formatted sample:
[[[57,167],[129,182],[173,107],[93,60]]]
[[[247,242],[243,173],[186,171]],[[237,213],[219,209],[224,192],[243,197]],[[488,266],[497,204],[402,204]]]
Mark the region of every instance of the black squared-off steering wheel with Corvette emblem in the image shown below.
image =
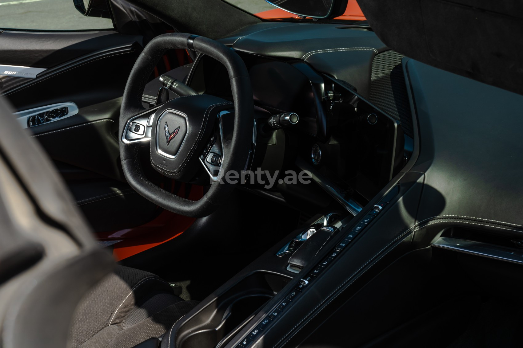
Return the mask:
[[[195,50],[222,63],[229,74],[233,102],[202,94],[179,97],[145,109],[142,106],[145,83],[169,49]],[[166,210],[190,217],[207,216],[234,189],[234,184],[220,180],[220,173],[246,169],[253,151],[253,115],[247,68],[232,49],[187,33],[157,36],[138,57],[123,92],[119,144],[124,176],[135,191]],[[145,177],[138,148],[146,142],[149,142],[151,166],[166,177],[187,182],[204,167],[212,183],[200,200],[181,198]]]

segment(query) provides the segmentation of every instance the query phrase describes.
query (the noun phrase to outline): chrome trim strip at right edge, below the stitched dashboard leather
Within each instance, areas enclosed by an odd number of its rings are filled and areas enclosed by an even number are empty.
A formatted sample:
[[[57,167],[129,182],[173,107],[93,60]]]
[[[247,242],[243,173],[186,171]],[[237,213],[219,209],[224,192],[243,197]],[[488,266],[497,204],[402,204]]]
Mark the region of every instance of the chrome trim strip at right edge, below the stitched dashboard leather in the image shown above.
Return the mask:
[[[495,260],[523,263],[523,250],[504,248],[479,241],[439,237],[431,246]]]

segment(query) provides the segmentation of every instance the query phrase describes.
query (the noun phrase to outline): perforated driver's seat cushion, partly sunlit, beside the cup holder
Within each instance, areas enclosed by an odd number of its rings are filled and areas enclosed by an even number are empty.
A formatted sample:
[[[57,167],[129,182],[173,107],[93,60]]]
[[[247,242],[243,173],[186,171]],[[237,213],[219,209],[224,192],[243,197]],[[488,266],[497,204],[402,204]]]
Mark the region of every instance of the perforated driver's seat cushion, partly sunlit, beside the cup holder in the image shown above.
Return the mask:
[[[152,273],[117,266],[78,305],[69,347],[133,347],[163,335],[196,304]]]

